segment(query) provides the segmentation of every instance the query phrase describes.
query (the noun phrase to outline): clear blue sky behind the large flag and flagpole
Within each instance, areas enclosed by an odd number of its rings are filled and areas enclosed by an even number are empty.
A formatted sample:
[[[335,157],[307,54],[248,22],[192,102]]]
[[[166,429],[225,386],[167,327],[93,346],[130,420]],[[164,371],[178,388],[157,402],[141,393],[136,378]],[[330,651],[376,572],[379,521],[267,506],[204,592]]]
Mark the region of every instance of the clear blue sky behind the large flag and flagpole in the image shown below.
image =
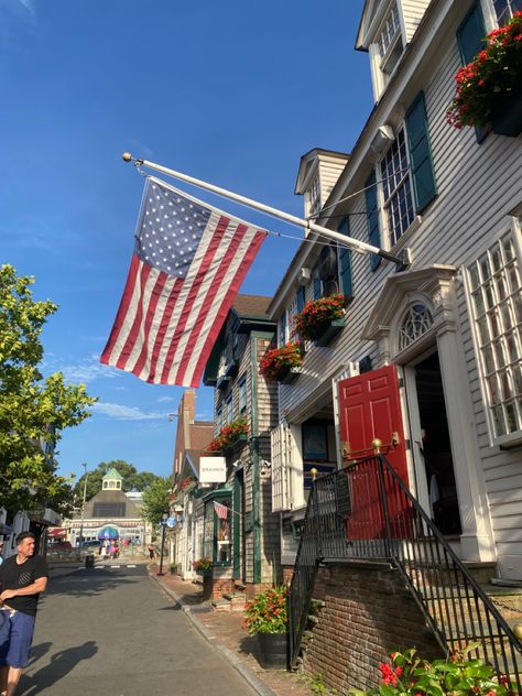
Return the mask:
[[[354,50],[362,4],[0,0],[0,262],[34,275],[35,297],[59,305],[44,331],[45,372],[63,370],[100,399],[64,433],[62,474],[109,459],[172,468],[167,414],[183,389],[98,362],[141,199],[121,153],[301,216],[300,157],[315,146],[350,151],[371,109],[368,56]],[[269,238],[242,292],[272,294],[297,243]],[[211,403],[200,388],[197,417],[211,418]]]

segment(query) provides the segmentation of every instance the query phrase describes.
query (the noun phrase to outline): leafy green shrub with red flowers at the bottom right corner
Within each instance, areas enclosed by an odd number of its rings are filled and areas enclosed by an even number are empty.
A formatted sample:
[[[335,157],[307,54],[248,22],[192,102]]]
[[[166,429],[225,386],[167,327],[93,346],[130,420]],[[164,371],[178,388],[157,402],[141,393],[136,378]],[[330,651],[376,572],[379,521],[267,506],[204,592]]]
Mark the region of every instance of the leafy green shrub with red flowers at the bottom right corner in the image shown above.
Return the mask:
[[[351,688],[350,696],[505,696],[509,679],[497,678],[493,668],[481,660],[470,660],[477,643],[454,652],[448,660],[428,662],[415,650],[392,653],[390,662],[379,665],[380,685],[367,692]],[[514,693],[514,692],[513,692]]]

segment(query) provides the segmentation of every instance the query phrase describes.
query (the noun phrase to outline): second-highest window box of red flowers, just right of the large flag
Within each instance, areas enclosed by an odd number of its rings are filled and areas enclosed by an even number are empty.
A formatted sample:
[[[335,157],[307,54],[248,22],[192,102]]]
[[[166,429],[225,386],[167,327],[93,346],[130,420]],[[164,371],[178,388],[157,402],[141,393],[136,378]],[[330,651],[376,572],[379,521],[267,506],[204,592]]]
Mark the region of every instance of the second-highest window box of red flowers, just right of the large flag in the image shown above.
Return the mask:
[[[346,303],[340,294],[307,302],[295,317],[294,334],[316,346],[327,346],[345,326]]]

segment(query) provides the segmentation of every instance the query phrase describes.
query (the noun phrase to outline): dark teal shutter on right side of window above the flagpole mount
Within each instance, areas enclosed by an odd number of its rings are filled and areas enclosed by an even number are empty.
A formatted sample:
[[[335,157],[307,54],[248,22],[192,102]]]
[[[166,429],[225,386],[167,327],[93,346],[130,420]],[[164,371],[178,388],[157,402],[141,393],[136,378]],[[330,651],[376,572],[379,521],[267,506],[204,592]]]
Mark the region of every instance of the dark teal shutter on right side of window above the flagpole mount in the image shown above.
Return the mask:
[[[427,132],[426,107],[424,93],[416,97],[406,112],[407,142],[410,145],[410,163],[412,166],[413,189],[415,192],[415,213],[424,208],[437,195],[437,186],[433,173],[429,135]]]

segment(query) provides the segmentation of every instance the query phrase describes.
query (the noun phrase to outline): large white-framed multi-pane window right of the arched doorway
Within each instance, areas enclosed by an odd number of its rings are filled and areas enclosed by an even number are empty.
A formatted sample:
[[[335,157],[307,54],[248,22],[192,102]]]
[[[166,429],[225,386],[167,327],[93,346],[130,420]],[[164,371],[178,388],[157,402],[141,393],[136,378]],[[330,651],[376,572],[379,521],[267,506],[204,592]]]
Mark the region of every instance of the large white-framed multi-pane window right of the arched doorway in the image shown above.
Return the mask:
[[[522,431],[522,291],[511,232],[468,268],[494,437]]]

